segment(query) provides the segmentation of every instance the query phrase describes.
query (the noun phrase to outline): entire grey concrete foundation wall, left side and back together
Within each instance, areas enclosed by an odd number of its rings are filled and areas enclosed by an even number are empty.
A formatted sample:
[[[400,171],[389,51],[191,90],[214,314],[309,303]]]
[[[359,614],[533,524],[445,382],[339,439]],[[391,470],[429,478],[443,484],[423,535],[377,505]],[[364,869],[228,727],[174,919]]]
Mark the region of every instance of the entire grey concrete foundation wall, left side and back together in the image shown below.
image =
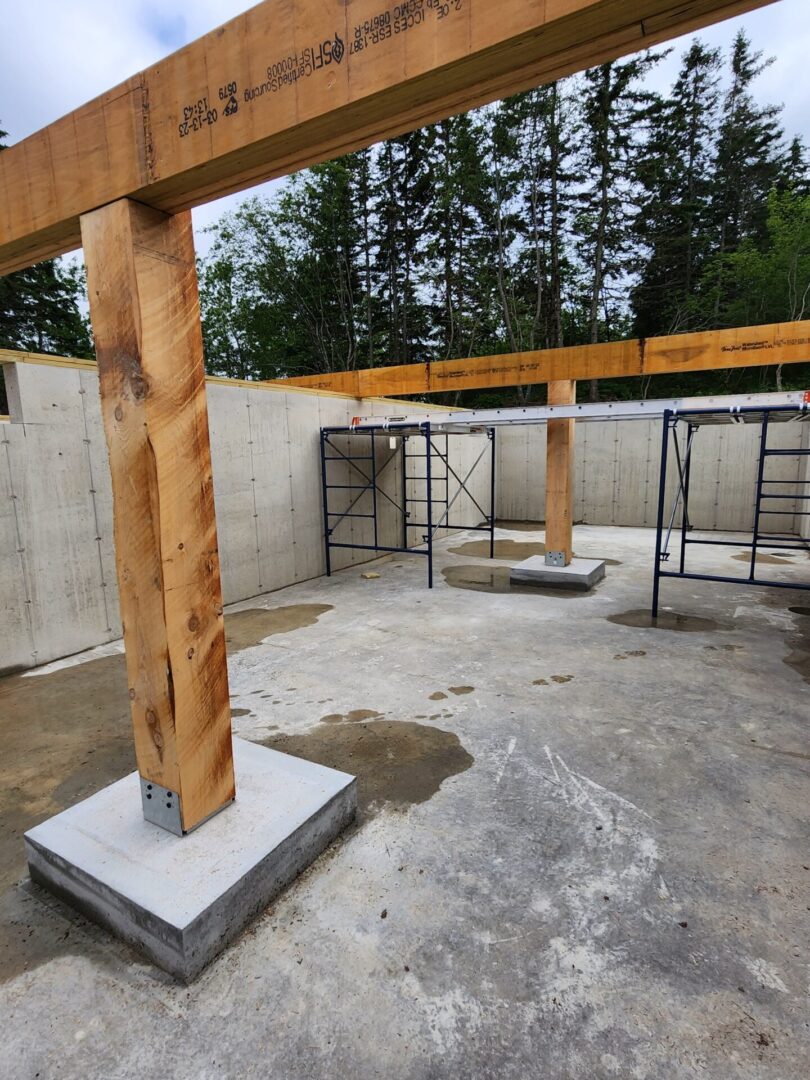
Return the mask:
[[[112,542],[112,492],[95,372],[80,367],[9,364],[4,367],[11,422],[0,423],[0,671],[46,663],[121,634]],[[246,599],[322,575],[325,570],[319,431],[342,427],[360,413],[384,415],[390,405],[334,395],[210,383],[208,416],[214,463],[222,588],[226,603]],[[774,424],[770,445],[808,445],[807,424]],[[692,467],[691,516],[698,528],[746,530],[753,517],[758,428],[717,427],[698,435]],[[349,456],[367,455],[368,438],[341,436]],[[497,431],[497,514],[541,521],[545,498],[545,429]],[[444,436],[434,437],[444,450]],[[378,542],[400,546],[407,485],[411,523],[424,522],[424,448],[409,440],[404,478],[400,440],[376,440]],[[484,435],[450,436],[450,465],[464,478],[483,454],[467,494],[450,508],[450,525],[478,524],[488,510],[489,457]],[[579,424],[577,521],[594,525],[653,526],[657,513],[660,422]],[[389,468],[382,467],[390,460]],[[341,512],[359,494],[357,472],[369,462],[336,461],[330,508]],[[807,470],[807,472],[801,472]],[[457,481],[433,459],[435,517],[438,500]],[[806,476],[810,459],[771,458],[769,475]],[[675,465],[671,461],[671,485]],[[810,484],[806,485],[810,494]],[[388,496],[389,498],[386,498]],[[473,501],[473,499],[475,501]],[[477,505],[476,505],[477,502]],[[770,522],[788,532],[810,518],[788,512]],[[370,514],[370,492],[354,513]],[[806,505],[810,509],[810,504]],[[421,516],[419,516],[421,515]],[[408,545],[424,528],[407,531]],[[440,536],[445,535],[444,531]],[[335,539],[372,545],[368,517],[346,518]],[[338,549],[340,569],[373,557],[370,551]]]

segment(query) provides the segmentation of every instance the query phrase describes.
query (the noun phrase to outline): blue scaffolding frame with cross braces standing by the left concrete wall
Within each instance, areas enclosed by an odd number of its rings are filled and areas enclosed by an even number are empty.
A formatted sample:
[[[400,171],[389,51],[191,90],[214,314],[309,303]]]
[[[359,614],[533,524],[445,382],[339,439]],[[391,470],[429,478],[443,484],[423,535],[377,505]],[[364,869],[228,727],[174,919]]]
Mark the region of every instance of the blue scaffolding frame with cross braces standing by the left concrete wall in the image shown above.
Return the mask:
[[[487,445],[477,456],[472,467],[464,476],[450,464],[450,436],[467,434],[486,434]],[[368,441],[367,454],[352,454],[351,447],[347,450],[337,445],[340,437],[357,438],[363,437]],[[437,444],[440,437],[444,437],[444,448]],[[399,445],[393,455],[380,467],[377,451],[377,438],[395,438]],[[411,446],[411,453],[408,447]],[[413,451],[413,446],[418,450]],[[473,473],[489,453],[489,509],[484,510],[475,496],[467,486]],[[397,502],[380,486],[380,477],[387,472],[392,462],[400,462],[402,502]],[[424,474],[411,475],[408,473],[409,461],[424,461]],[[336,483],[329,476],[329,462],[339,461],[350,465],[351,478],[357,483]],[[359,463],[360,462],[360,463]],[[443,463],[444,475],[435,473],[435,464]],[[457,483],[457,488],[450,497],[450,477]],[[436,498],[433,487],[436,483],[444,482],[444,498]],[[408,497],[408,484],[416,483],[423,485],[424,498]],[[428,559],[428,588],[433,588],[433,541],[438,529],[461,530],[472,532],[489,534],[489,557],[495,555],[495,486],[496,486],[496,454],[495,454],[495,428],[485,428],[477,431],[449,431],[436,429],[429,422],[422,423],[390,423],[379,424],[367,423],[353,427],[322,428],[321,429],[321,487],[323,492],[323,523],[324,543],[326,549],[326,575],[332,576],[332,551],[335,548],[345,548],[354,551],[373,551],[378,554],[403,554],[423,555]],[[330,509],[329,494],[334,491],[349,491],[349,504],[340,510]],[[356,492],[356,494],[354,494]],[[450,525],[449,513],[462,492],[467,492],[481,517],[477,522],[469,525]],[[364,495],[369,494],[370,513],[361,513],[355,510]],[[383,545],[380,543],[379,508],[381,500],[387,500],[402,515],[402,546]],[[424,521],[411,519],[415,511],[410,508],[418,505],[424,508]],[[438,519],[435,519],[436,508],[444,508]],[[336,532],[345,522],[353,518],[363,518],[373,523],[374,542],[370,544],[353,543],[336,538]],[[483,522],[483,524],[482,524]],[[421,540],[409,545],[410,529],[423,529]]]

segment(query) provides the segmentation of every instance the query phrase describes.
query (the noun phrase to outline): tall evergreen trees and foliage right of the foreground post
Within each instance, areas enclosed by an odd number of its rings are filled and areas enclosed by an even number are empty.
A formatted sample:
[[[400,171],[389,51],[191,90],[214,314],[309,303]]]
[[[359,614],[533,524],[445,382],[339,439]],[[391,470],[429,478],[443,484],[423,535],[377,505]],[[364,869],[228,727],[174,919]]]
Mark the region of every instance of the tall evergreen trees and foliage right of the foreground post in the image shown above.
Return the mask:
[[[669,93],[645,53],[293,177],[214,227],[207,363],[242,378],[801,318],[810,183],[770,60],[694,40]],[[629,397],[762,389],[801,367],[602,380]],[[542,397],[540,388],[448,404]]]

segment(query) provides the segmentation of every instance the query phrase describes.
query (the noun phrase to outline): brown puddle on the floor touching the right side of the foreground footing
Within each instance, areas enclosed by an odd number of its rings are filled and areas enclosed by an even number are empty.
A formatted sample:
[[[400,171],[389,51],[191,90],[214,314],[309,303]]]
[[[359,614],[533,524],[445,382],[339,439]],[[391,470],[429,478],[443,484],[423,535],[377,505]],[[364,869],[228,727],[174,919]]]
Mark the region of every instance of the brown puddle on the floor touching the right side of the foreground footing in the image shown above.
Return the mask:
[[[361,822],[387,806],[426,802],[474,760],[453,731],[413,720],[320,725],[305,734],[272,735],[262,745],[355,775]]]

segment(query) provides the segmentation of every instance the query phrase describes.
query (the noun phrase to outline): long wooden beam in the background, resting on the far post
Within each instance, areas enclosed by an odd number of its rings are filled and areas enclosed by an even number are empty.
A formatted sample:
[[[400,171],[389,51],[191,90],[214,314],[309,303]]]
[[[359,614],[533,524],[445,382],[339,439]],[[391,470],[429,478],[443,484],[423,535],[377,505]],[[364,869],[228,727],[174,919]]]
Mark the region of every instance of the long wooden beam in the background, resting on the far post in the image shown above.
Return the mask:
[[[367,367],[278,380],[279,386],[332,390],[354,397],[436,394],[454,390],[526,386],[577,379],[672,375],[725,367],[810,361],[810,320],[703,330],[669,337],[569,346],[539,352]]]

